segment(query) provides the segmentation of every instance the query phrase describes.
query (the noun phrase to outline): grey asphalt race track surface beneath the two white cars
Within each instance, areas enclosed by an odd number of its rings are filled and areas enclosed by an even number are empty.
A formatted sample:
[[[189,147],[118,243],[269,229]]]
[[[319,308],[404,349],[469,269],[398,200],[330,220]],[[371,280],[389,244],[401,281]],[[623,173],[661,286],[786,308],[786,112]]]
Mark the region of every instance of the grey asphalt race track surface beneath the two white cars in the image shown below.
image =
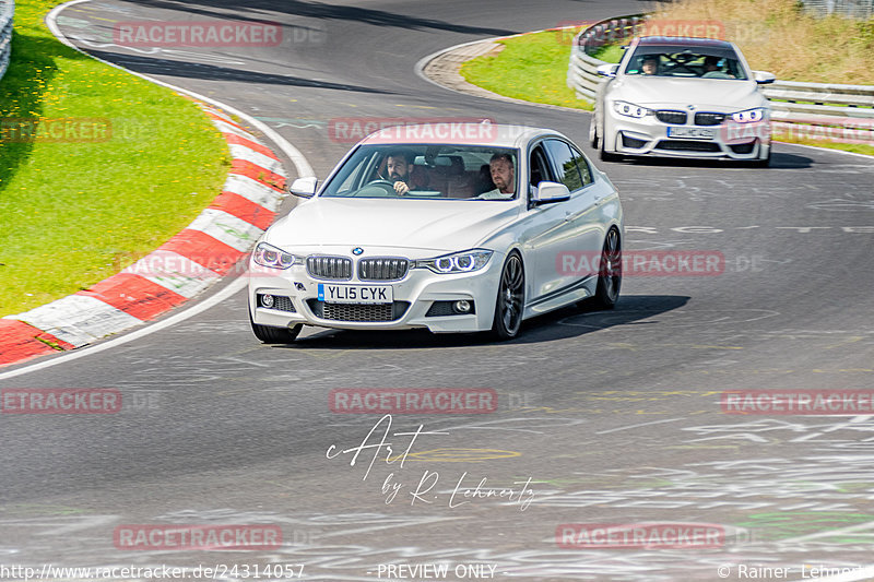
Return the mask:
[[[99,0],[58,23],[96,56],[267,122],[323,178],[351,146],[329,131],[338,118],[489,117],[586,145],[588,114],[461,95],[414,66],[460,43],[641,10],[631,0]],[[283,43],[113,43],[117,22],[214,19],[282,23]],[[484,565],[479,579],[635,582],[742,580],[765,567],[757,580],[801,580],[811,567],[874,562],[872,416],[744,416],[720,404],[727,390],[874,388],[874,162],[778,144],[768,169],[604,164],[586,147],[622,194],[626,249],[719,251],[724,272],[626,277],[615,311],[565,309],[505,344],[308,328],[292,346],[264,346],[239,292],[93,355],[4,369],[0,388],[111,388],[128,404],[3,415],[0,562],[304,565],[303,579],[331,581],[425,580],[387,566],[440,563],[461,580],[459,565]],[[352,466],[352,453],[328,451],[358,446],[379,417],[334,414],[329,392],[355,388],[494,389],[499,400],[492,414],[394,415],[371,442],[385,432],[395,455],[409,447],[404,465],[382,449]],[[413,444],[394,435],[420,425],[434,433]],[[641,522],[724,535],[710,548],[556,539],[562,524]],[[123,524],[272,524],[283,543],[119,549]],[[215,578],[246,578],[229,572]]]

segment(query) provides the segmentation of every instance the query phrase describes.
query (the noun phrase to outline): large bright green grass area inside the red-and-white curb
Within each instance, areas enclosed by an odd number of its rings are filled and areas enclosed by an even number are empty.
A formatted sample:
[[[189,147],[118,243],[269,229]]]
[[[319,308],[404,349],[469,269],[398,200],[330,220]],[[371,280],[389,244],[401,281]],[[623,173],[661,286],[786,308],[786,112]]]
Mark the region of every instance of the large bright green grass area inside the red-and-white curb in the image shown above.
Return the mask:
[[[185,228],[221,191],[227,145],[190,100],[59,43],[57,0],[19,0],[0,81],[0,316],[99,282]],[[92,118],[105,141],[12,139],[9,118]],[[81,126],[80,126],[81,127]],[[38,135],[39,133],[37,133]]]

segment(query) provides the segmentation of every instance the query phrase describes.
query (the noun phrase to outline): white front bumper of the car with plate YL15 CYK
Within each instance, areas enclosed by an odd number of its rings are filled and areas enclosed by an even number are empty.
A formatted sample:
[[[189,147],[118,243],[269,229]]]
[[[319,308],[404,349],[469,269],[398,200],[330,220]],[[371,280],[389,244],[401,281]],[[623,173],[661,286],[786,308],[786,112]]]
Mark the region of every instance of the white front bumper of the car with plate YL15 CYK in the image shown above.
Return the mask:
[[[397,256],[397,254],[395,254]],[[287,328],[296,324],[343,330],[409,330],[426,328],[435,333],[479,332],[492,329],[504,257],[495,252],[488,263],[471,273],[438,274],[411,269],[399,281],[326,281],[312,277],[306,265],[287,270],[249,264],[249,313],[260,325]],[[390,285],[393,304],[332,304],[318,296],[319,283],[330,285]],[[272,308],[259,296],[274,297]],[[446,314],[447,302],[466,300],[473,313]],[[435,302],[440,305],[435,307]],[[386,320],[388,318],[388,320]]]

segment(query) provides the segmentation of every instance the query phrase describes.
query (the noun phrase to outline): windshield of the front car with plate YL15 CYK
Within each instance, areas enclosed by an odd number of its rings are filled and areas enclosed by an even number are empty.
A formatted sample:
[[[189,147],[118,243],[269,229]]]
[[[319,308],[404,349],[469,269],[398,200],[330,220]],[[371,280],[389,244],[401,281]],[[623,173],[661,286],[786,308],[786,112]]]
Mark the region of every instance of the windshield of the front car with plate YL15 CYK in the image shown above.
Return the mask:
[[[363,145],[322,191],[330,198],[512,200],[517,151],[476,145]]]

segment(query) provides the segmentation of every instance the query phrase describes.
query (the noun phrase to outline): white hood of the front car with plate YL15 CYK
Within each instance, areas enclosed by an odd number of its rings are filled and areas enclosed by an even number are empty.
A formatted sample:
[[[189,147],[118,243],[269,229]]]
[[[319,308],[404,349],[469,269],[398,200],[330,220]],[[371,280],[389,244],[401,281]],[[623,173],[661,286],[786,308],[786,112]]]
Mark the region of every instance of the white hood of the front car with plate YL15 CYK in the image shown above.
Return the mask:
[[[441,252],[482,244],[519,214],[517,201],[315,198],[270,227],[282,249],[416,248]]]

